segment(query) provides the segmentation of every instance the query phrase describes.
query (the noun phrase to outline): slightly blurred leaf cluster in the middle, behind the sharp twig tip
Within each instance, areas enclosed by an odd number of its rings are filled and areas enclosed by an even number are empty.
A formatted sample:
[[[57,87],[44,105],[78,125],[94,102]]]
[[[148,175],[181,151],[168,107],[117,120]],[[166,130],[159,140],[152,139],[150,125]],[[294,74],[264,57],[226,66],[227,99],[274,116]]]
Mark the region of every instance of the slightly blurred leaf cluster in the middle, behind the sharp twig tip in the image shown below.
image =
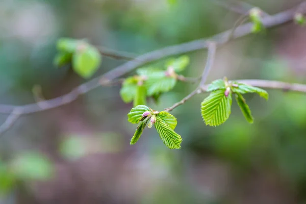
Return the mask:
[[[177,73],[189,64],[189,58],[182,56],[170,59],[165,63],[166,69],[139,68],[137,75],[126,78],[122,84],[120,95],[125,103],[134,101],[134,107],[146,105],[146,98],[158,101],[160,95],[174,88],[178,80]]]

